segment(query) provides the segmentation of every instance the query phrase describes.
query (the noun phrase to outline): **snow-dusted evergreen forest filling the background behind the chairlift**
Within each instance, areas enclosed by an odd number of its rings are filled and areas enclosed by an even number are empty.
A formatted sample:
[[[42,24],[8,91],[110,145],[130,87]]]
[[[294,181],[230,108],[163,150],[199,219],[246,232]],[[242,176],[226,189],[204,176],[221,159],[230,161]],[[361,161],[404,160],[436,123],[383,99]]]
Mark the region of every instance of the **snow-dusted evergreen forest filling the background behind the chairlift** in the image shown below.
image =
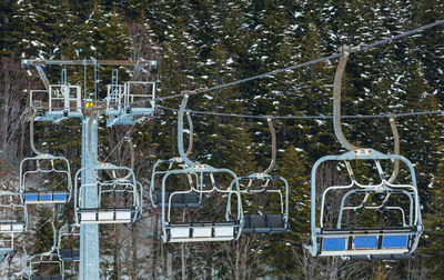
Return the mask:
[[[2,0],[0,2],[0,180],[18,189],[20,160],[29,147],[29,90],[42,89],[37,72],[20,59],[157,59],[160,96],[201,89],[297,64],[336,52],[342,44],[371,43],[443,18],[444,1],[170,1],[170,0]],[[337,60],[192,97],[192,110],[271,116],[332,113],[332,83]],[[343,84],[343,114],[380,114],[441,110],[444,104],[444,27],[351,56]],[[69,73],[70,74],[70,73]],[[54,82],[58,74],[50,77]],[[82,76],[72,73],[71,83]],[[103,79],[110,79],[103,78]],[[91,84],[91,83],[90,83]],[[179,108],[180,100],[162,106]],[[266,121],[251,118],[193,116],[191,157],[244,176],[270,160]],[[440,279],[444,274],[443,116],[396,119],[401,153],[416,169],[425,232],[410,261],[314,259],[309,240],[310,170],[325,154],[342,151],[327,119],[275,120],[278,164],[272,174],[291,187],[287,234],[241,236],[239,241],[163,244],[159,211],[148,201],[155,160],[176,156],[176,120],[163,111],[158,120],[137,126],[135,173],[145,187],[143,220],[133,226],[101,227],[101,273],[109,279]],[[351,141],[383,152],[393,150],[389,120],[346,119]],[[37,123],[37,146],[80,164],[80,123]],[[128,128],[100,130],[105,157]],[[129,166],[123,144],[110,159]],[[325,177],[335,170],[325,168]],[[326,180],[327,181],[327,180]],[[30,213],[36,229],[50,208]],[[58,227],[72,223],[72,206],[58,214]],[[28,253],[47,251],[49,224],[19,238]],[[17,252],[20,253],[19,251]],[[3,262],[0,276],[17,270]],[[69,269],[69,267],[68,267]],[[71,272],[70,272],[71,273]],[[74,273],[72,274],[74,276]]]

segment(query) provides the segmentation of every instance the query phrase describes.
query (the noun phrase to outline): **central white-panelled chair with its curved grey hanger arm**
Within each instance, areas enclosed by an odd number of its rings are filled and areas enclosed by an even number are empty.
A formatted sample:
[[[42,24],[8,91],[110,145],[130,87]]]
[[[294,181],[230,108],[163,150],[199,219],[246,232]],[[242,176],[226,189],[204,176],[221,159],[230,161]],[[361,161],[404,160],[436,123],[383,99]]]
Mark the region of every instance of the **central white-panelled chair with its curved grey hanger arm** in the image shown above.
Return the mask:
[[[162,203],[161,203],[161,217],[162,217],[162,240],[163,242],[200,242],[200,241],[229,241],[236,240],[242,231],[243,226],[243,213],[242,213],[242,201],[239,190],[239,181],[236,174],[230,169],[218,169],[208,164],[201,164],[192,162],[183,150],[183,114],[186,107],[189,93],[185,92],[182,99],[182,103],[179,110],[178,117],[178,147],[179,153],[188,166],[183,169],[175,169],[168,171],[162,178]],[[231,176],[234,179],[235,190],[228,188],[226,190],[220,189],[214,180],[215,173],[222,173]],[[167,197],[167,180],[170,176],[176,174],[198,174],[196,188],[191,188],[188,191],[174,191],[171,196]],[[211,181],[211,188],[204,189],[203,177],[208,176]],[[198,193],[220,193],[222,197],[228,198],[228,194],[235,194],[236,200],[236,216],[232,217],[225,213],[223,220],[215,221],[214,219],[206,218],[206,221],[173,221],[171,218],[172,200],[174,196],[181,196],[183,193],[198,192]],[[169,200],[167,202],[167,199]],[[211,201],[214,203],[214,201]],[[228,203],[226,203],[228,204]],[[205,203],[202,202],[202,207]],[[214,218],[214,217],[212,217]]]

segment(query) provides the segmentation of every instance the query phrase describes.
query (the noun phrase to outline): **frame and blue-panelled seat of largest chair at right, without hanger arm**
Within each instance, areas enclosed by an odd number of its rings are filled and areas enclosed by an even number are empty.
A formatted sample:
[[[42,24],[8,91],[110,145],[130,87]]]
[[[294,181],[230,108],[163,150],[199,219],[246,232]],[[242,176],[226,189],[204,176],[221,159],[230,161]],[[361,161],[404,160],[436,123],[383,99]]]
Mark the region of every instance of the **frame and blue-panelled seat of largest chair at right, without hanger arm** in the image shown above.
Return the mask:
[[[380,174],[382,182],[377,184],[360,184],[356,183],[354,176],[347,166],[349,173],[351,174],[352,182],[349,186],[334,186],[326,188],[322,193],[322,204],[319,222],[316,222],[316,170],[317,168],[326,161],[350,161],[350,160],[400,160],[408,167],[411,184],[396,184],[390,183],[385,179],[383,172]],[[404,258],[406,254],[412,256],[413,251],[416,249],[420,237],[423,232],[423,222],[421,217],[421,206],[417,193],[416,177],[413,164],[402,156],[398,154],[384,154],[373,149],[356,149],[345,152],[341,156],[326,156],[317,160],[312,169],[312,182],[311,182],[311,244],[307,246],[313,256],[379,256],[375,258],[383,258],[381,256],[392,256],[393,258],[398,258],[400,254]],[[352,189],[357,188],[357,189]],[[323,226],[323,213],[325,206],[325,193],[333,190],[346,190],[351,189],[349,192],[343,194],[341,200],[340,216],[335,229],[329,229]],[[357,207],[345,207],[345,199],[353,193],[364,193],[363,203],[365,203],[367,194],[379,193],[385,196],[383,203],[376,207],[366,207],[366,209],[380,209],[383,208],[389,196],[393,193],[405,194],[410,201],[410,216],[408,222],[406,222],[404,211],[403,226],[405,228],[370,228],[370,229],[342,229],[341,220],[342,212],[346,209],[359,209]],[[397,207],[393,207],[389,210],[400,210]],[[319,224],[319,226],[317,226]],[[365,238],[364,238],[365,237]],[[369,246],[366,248],[365,246]],[[389,258],[387,257],[387,258]],[[391,258],[392,258],[391,257]],[[367,259],[371,259],[369,257]]]

